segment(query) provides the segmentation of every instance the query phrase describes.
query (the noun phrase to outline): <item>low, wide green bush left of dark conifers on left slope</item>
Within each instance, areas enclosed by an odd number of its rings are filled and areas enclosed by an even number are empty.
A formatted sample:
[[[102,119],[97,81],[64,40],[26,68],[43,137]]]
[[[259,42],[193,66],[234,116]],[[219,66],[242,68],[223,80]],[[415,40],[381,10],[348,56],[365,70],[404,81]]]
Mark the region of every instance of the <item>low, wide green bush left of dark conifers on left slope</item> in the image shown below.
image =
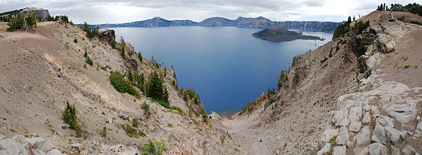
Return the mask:
[[[112,72],[112,74],[110,75],[110,83],[113,85],[114,89],[117,90],[117,92],[127,92],[128,94],[131,94],[133,96],[139,96],[137,90],[135,90],[134,87],[130,85],[129,81],[126,81],[123,78],[123,75],[120,72]]]

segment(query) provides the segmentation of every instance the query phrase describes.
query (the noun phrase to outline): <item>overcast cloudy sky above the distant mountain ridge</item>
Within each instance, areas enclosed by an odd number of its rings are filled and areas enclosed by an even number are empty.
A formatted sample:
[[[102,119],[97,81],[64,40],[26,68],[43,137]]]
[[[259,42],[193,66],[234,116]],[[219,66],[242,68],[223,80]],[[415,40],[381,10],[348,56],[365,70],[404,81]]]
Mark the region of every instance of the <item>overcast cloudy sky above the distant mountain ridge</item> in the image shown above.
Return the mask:
[[[163,17],[202,21],[208,17],[266,17],[272,21],[343,21],[368,14],[382,3],[421,0],[0,0],[0,12],[45,8],[74,23],[125,23]]]

